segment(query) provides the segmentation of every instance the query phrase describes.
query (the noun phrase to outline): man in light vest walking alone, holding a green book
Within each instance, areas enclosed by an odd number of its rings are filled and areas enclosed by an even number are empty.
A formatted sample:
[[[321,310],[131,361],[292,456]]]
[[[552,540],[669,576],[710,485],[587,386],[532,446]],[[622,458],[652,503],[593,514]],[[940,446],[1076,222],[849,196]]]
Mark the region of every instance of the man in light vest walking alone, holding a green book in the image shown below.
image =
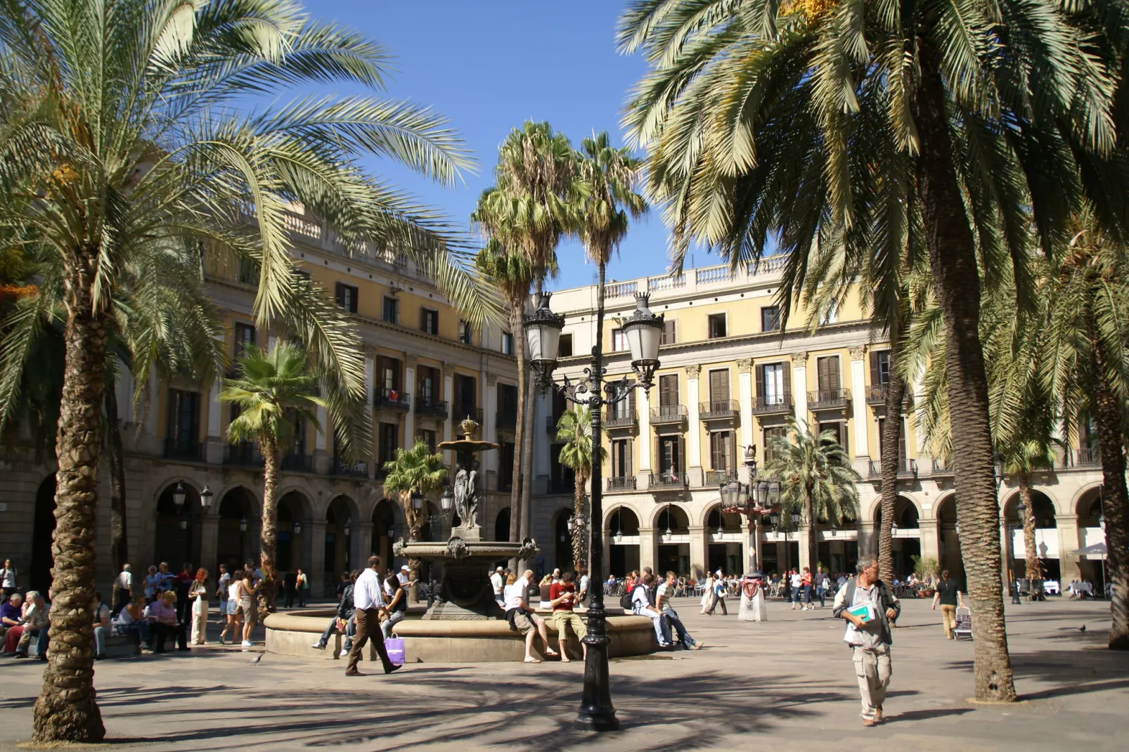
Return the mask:
[[[890,646],[890,620],[901,613],[902,604],[878,579],[878,560],[858,562],[858,575],[835,594],[832,613],[847,620],[843,641],[851,647],[855,675],[863,698],[863,725],[875,726],[882,722],[882,703],[893,666]]]

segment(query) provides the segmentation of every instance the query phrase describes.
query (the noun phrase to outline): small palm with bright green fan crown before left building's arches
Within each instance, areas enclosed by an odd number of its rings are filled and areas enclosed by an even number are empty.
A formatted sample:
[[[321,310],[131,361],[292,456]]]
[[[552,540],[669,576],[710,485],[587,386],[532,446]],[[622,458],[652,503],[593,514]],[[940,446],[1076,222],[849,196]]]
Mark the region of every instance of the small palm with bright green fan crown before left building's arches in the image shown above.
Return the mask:
[[[317,396],[317,379],[309,370],[307,355],[286,342],[279,342],[270,351],[246,346],[238,368],[238,377],[224,379],[219,399],[239,408],[239,414],[227,427],[228,440],[257,441],[263,455],[263,523],[259,539],[263,584],[259,592],[259,611],[265,617],[274,611],[278,593],[274,576],[278,499],[274,492],[282,453],[294,441],[291,418],[321,430],[316,408],[330,403]]]

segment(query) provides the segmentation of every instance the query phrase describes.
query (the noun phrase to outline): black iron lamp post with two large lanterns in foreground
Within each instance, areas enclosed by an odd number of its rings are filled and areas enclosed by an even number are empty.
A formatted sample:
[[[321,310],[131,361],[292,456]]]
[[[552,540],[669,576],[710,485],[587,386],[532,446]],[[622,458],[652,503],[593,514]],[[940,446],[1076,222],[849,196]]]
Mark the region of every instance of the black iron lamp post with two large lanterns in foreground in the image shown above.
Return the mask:
[[[604,279],[601,268],[599,279]],[[658,367],[658,344],[663,335],[663,316],[647,307],[649,294],[636,294],[636,309],[623,322],[622,331],[631,351],[631,367],[638,381],[629,382],[627,376],[616,382],[604,383],[604,286],[601,282],[596,309],[596,346],[592,349],[592,367],[585,368],[585,377],[577,383],[567,376],[562,385],[553,384],[557,368],[557,346],[564,327],[564,316],[549,308],[550,294],[537,294],[537,307],[525,317],[524,329],[528,342],[530,366],[536,376],[537,386],[544,391],[555,386],[564,399],[574,404],[586,404],[592,411],[592,456],[599,457],[603,445],[601,420],[603,406],[614,405],[629,397],[636,386],[650,393],[651,378]],[[588,635],[584,638],[588,646],[584,662],[584,694],[580,711],[572,722],[575,728],[586,731],[615,731],[620,722],[612,706],[612,690],[607,673],[607,612],[604,610],[604,534],[603,534],[603,466],[592,463],[592,505],[589,507],[592,531],[592,605],[588,606]]]

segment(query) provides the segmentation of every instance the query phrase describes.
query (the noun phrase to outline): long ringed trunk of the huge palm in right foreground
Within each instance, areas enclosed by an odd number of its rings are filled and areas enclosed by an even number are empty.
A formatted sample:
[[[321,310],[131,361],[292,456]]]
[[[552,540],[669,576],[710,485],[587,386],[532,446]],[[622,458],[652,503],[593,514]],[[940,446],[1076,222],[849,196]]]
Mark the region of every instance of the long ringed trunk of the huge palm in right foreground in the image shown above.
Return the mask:
[[[1014,701],[1000,587],[999,507],[992,474],[988,378],[980,344],[980,277],[975,246],[953,169],[953,145],[940,65],[931,43],[919,45],[916,94],[921,154],[918,190],[929,266],[945,323],[945,373],[955,463],[961,554],[972,598],[978,700]]]

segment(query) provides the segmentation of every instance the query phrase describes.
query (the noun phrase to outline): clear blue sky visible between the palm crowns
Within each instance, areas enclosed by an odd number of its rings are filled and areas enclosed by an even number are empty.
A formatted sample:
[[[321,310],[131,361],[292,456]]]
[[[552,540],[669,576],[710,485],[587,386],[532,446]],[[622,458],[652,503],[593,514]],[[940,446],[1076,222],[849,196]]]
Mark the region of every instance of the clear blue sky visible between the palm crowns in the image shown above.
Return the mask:
[[[465,185],[444,189],[387,163],[382,175],[465,221],[493,183],[498,145],[523,121],[548,120],[574,146],[593,130],[622,145],[628,89],[646,72],[638,56],[615,51],[619,0],[307,0],[312,16],[358,28],[395,55],[388,95],[427,104],[452,120],[478,159]],[[469,226],[469,225],[467,225]],[[609,279],[660,274],[666,228],[653,211],[612,261]],[[717,263],[698,253],[699,265]],[[594,281],[595,266],[576,243],[558,250],[561,273],[550,287]],[[689,264],[688,264],[689,265]]]

